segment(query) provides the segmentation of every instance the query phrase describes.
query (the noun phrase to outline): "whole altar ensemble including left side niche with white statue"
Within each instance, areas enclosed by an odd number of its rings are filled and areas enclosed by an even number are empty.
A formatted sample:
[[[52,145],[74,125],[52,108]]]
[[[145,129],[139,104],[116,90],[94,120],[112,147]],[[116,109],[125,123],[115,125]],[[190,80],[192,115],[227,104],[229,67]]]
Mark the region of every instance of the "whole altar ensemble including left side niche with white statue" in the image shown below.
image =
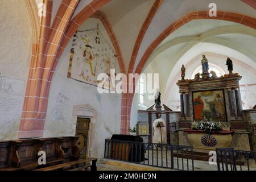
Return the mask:
[[[186,68],[182,65],[181,80],[176,83],[180,111],[172,111],[158,101],[146,110],[138,110],[139,125],[148,130],[141,135],[144,142],[193,146],[195,152],[205,155],[225,147],[255,150],[256,110],[242,110],[242,76],[233,73],[232,60],[228,58],[225,63],[229,74],[217,77],[209,72],[208,60],[203,56],[202,73],[193,79],[185,78]],[[163,127],[156,127],[159,122]]]

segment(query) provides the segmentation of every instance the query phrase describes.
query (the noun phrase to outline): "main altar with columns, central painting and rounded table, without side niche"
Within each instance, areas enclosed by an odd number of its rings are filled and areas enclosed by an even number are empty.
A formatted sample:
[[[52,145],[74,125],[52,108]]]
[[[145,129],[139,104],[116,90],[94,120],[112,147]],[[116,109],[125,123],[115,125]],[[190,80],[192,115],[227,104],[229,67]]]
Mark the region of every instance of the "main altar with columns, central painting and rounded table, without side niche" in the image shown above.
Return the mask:
[[[209,152],[218,147],[250,151],[247,121],[242,111],[239,81],[242,76],[233,73],[232,60],[226,60],[229,74],[217,77],[208,72],[208,60],[201,61],[202,73],[193,79],[177,82],[180,93],[181,119],[179,144],[192,145],[195,151]],[[207,120],[207,121],[205,121]],[[209,125],[218,125],[218,131],[205,132]],[[193,126],[197,125],[197,127]]]

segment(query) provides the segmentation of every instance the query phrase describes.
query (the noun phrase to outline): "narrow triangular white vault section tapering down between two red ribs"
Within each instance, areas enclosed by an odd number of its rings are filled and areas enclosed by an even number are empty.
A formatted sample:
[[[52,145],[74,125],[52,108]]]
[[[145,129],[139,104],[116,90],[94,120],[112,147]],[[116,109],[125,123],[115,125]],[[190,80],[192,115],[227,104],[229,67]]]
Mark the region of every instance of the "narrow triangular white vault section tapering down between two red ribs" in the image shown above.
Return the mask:
[[[153,4],[154,0],[114,0],[100,10],[108,18],[117,36],[126,70],[139,31]]]

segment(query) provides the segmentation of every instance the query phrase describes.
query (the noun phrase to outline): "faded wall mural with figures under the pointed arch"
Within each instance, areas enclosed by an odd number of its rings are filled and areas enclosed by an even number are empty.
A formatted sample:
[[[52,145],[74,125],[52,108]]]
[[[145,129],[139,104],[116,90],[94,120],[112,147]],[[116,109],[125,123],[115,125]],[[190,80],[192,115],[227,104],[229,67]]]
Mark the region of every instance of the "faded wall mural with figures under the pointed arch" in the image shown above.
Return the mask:
[[[114,90],[114,84],[112,86],[110,81],[114,75],[110,75],[110,69],[118,72],[117,55],[101,31],[98,28],[77,31],[72,41],[68,77],[97,86],[102,81],[97,80],[97,76],[106,73],[109,85],[105,85],[105,88]]]

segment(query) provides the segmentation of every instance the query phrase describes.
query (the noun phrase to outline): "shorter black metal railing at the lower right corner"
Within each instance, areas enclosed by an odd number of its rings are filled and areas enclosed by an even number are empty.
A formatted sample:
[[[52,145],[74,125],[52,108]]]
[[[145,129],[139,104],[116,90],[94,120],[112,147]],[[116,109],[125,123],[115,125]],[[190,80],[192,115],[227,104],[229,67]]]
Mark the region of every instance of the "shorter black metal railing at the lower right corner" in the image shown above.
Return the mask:
[[[256,152],[216,148],[218,171],[256,170]]]

